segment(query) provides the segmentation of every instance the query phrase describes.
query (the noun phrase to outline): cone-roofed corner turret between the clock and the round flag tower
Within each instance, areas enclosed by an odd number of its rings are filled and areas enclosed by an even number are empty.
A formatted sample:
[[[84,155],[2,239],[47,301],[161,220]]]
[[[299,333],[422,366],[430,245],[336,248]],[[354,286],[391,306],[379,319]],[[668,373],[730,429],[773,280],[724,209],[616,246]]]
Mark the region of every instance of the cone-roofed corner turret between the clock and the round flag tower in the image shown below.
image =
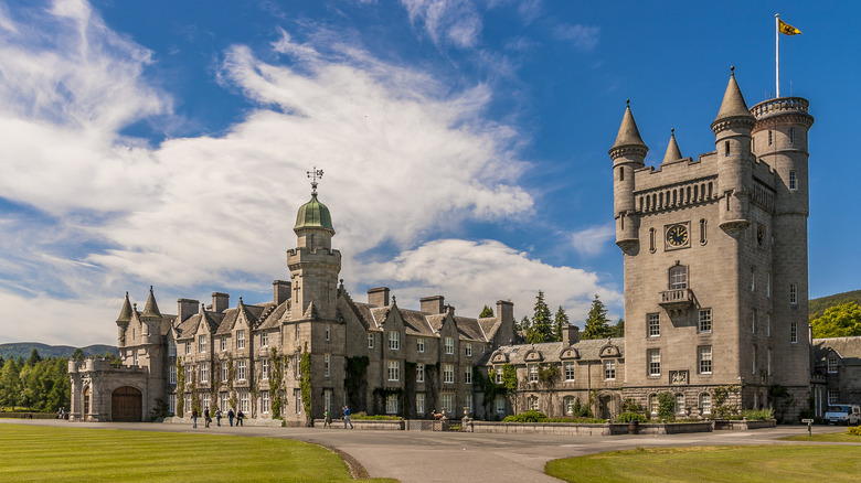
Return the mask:
[[[718,117],[712,122],[712,131],[721,190],[720,227],[729,234],[736,234],[751,224],[751,130],[756,120],[747,110],[735,82],[735,67],[732,71]]]

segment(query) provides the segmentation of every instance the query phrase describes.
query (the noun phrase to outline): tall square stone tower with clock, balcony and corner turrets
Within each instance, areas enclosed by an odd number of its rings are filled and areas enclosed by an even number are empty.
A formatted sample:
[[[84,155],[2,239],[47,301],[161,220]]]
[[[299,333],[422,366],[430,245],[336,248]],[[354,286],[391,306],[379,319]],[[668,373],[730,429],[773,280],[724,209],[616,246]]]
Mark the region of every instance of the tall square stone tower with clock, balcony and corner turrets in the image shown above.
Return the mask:
[[[683,158],[674,132],[662,162],[628,106],[613,159],[616,244],[625,269],[625,389],[653,406],[759,408],[769,387],[807,401],[808,101],[748,109],[730,77],[712,131],[715,150]],[[787,398],[788,400],[789,398]],[[716,402],[721,401],[714,401]],[[651,408],[650,408],[651,409]]]

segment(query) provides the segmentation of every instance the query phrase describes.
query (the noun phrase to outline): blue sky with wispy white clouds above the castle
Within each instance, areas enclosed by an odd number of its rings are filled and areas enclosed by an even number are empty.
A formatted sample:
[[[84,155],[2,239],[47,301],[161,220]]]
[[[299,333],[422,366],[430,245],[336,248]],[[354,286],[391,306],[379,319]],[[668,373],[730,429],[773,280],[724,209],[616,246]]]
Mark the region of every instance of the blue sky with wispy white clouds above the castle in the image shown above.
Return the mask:
[[[0,1],[0,342],[116,344],[162,313],[288,279],[321,169],[355,301],[460,315],[539,290],[624,313],[612,161],[626,99],[660,163],[748,106],[810,100],[810,297],[857,290],[861,2]],[[842,26],[841,26],[842,25]]]

